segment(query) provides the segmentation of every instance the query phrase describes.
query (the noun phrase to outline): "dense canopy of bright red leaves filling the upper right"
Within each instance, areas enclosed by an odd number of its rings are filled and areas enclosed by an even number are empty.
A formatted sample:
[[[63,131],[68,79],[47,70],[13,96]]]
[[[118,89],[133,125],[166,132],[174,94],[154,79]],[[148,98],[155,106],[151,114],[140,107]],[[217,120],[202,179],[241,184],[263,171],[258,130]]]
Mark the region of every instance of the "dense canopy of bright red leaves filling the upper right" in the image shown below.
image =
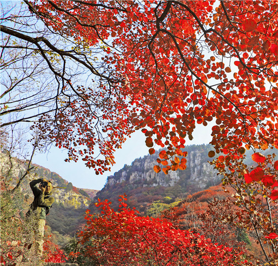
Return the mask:
[[[217,153],[277,147],[276,1],[42,1],[34,7],[56,32],[103,43],[112,90],[129,99],[122,126],[143,129],[148,147],[167,147],[165,173],[184,169],[177,156],[186,156],[180,149],[196,123],[216,123]],[[61,132],[56,141],[65,139]],[[90,166],[91,156],[84,160]]]

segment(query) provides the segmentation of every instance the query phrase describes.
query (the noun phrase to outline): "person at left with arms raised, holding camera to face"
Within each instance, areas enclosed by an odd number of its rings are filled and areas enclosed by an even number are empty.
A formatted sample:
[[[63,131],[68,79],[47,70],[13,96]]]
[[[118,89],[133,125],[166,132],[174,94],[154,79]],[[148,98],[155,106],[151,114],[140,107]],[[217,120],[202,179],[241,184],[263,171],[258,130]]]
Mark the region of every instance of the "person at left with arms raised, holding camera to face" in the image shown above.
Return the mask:
[[[36,185],[39,184],[37,187]],[[30,188],[34,194],[34,200],[30,205],[30,210],[27,216],[33,212],[37,218],[36,228],[36,242],[35,242],[35,255],[41,256],[43,250],[43,236],[45,226],[45,216],[48,214],[51,205],[54,203],[52,194],[52,183],[46,179],[36,179],[29,183]]]

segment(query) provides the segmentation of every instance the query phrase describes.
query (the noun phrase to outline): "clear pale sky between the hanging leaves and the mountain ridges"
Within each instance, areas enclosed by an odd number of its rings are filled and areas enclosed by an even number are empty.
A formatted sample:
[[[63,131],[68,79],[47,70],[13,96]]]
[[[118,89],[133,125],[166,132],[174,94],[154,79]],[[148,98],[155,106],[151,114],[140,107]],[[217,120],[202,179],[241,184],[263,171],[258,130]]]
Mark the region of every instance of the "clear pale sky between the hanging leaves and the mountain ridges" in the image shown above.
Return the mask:
[[[193,132],[193,140],[186,139],[186,145],[209,143],[212,138],[210,135],[212,126],[213,124],[209,124],[206,127],[197,125]],[[85,167],[81,159],[77,163],[64,162],[67,152],[63,152],[57,147],[52,147],[48,153],[36,154],[33,158],[33,163],[50,169],[78,188],[101,190],[108,176],[122,169],[125,164],[131,165],[135,158],[148,154],[149,148],[145,144],[145,139],[146,137],[141,131],[134,132],[131,138],[126,140],[122,148],[116,150],[116,164],[111,168],[111,172],[106,172],[104,175],[95,175],[95,171]],[[155,148],[159,149],[159,147]]]

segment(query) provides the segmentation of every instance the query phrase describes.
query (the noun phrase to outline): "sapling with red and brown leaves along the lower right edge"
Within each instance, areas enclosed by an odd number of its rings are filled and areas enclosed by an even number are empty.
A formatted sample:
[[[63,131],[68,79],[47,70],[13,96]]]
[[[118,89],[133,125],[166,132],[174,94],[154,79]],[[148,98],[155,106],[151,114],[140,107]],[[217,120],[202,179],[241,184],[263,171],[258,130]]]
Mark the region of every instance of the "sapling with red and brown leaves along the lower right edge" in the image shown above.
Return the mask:
[[[223,157],[223,156],[222,156]],[[270,265],[278,262],[278,161],[274,154],[264,156],[259,152],[252,155],[254,165],[248,167],[244,157],[237,161],[219,156],[212,164],[228,183],[226,192],[235,198],[239,208],[228,216],[222,214],[220,220],[244,230],[252,235]],[[224,158],[224,157],[223,157]],[[226,166],[228,165],[228,166]]]

